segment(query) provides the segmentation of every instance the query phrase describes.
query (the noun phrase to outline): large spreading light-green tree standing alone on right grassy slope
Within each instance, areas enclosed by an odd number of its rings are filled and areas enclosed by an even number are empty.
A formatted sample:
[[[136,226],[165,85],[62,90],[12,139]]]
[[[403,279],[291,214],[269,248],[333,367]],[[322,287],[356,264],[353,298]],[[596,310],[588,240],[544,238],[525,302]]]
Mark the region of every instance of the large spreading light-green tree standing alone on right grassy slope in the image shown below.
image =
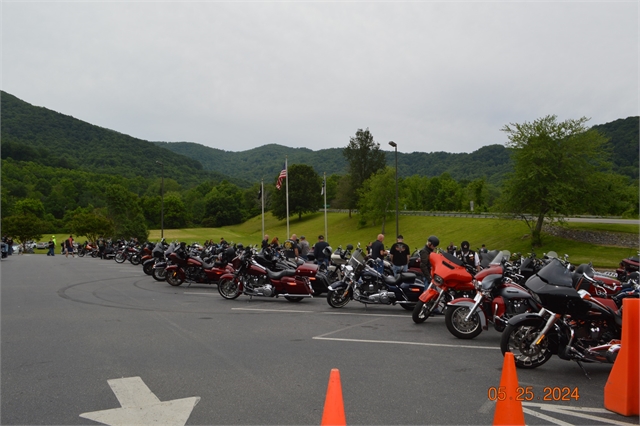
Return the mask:
[[[542,244],[545,219],[579,214],[608,204],[607,139],[588,130],[586,117],[562,122],[555,115],[532,123],[511,123],[501,130],[512,149],[514,171],[504,182],[498,208],[527,223],[534,246]]]

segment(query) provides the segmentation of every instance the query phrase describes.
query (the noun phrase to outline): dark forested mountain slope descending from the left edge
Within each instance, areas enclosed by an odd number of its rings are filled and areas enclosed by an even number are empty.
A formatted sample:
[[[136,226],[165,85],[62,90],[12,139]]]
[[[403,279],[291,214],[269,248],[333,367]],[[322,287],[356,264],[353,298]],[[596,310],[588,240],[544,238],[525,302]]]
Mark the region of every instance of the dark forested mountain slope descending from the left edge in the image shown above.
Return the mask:
[[[186,186],[222,174],[151,142],[36,107],[1,92],[2,158],[132,178],[171,177]],[[237,180],[237,179],[236,179]]]

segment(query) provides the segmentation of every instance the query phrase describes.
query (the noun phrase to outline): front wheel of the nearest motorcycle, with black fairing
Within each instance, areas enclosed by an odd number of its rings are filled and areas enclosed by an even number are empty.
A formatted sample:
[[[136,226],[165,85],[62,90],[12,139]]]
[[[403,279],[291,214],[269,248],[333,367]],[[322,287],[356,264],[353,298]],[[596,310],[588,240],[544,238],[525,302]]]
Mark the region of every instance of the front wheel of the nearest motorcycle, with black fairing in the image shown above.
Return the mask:
[[[543,327],[544,322],[535,325],[507,325],[500,339],[502,354],[504,355],[507,352],[513,353],[513,358],[518,368],[540,367],[549,361],[553,355],[549,349],[549,339],[547,337],[545,337],[539,345],[532,345],[538,338]]]

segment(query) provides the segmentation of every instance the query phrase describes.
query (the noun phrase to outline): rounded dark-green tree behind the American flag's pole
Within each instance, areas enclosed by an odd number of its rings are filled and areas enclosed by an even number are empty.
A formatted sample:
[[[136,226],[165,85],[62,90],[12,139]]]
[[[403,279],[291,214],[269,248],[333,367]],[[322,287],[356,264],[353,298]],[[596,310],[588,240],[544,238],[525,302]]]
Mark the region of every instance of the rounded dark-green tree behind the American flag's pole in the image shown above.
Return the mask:
[[[313,213],[322,207],[322,178],[306,164],[291,164],[289,174],[289,216]],[[279,220],[287,217],[286,185],[271,194],[271,212]]]

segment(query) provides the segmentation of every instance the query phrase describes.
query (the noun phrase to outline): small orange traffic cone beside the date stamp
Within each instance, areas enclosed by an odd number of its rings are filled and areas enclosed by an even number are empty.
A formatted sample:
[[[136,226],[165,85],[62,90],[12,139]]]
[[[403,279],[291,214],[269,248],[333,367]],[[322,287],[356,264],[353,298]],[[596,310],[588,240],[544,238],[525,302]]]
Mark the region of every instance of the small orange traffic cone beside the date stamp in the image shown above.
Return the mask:
[[[504,354],[504,362],[502,363],[498,403],[493,415],[494,425],[524,425],[522,402],[516,398],[518,396],[517,388],[516,361],[513,354],[507,352]]]

